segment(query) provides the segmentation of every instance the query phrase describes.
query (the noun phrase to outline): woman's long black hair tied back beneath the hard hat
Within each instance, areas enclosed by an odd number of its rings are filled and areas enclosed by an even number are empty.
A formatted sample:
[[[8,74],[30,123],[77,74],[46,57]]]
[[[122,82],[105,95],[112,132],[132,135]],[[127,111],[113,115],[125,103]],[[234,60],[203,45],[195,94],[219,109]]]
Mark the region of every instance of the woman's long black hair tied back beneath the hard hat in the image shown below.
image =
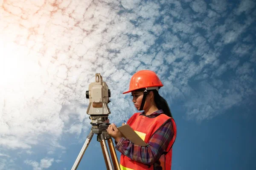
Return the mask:
[[[139,92],[143,92],[145,91],[145,88],[144,89],[137,89],[137,90],[134,90],[134,91],[139,91]],[[167,101],[158,93],[158,91],[156,89],[153,89],[153,90],[147,90],[149,94],[150,91],[152,91],[154,93],[154,102],[156,103],[157,105],[157,109],[162,109],[163,110],[163,113],[169,117],[172,118],[172,112],[169,108],[169,105],[167,104]]]

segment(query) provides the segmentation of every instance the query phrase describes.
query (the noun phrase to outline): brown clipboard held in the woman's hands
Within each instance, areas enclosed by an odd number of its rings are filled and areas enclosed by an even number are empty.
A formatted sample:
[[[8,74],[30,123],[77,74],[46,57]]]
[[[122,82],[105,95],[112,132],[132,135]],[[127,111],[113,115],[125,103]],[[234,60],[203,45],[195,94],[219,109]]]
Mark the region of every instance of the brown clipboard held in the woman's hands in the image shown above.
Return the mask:
[[[147,146],[148,144],[140,138],[140,136],[134,132],[130,125],[125,124],[123,126],[117,127],[117,129],[122,133],[122,136],[129,139],[132,143],[140,145],[142,147]]]

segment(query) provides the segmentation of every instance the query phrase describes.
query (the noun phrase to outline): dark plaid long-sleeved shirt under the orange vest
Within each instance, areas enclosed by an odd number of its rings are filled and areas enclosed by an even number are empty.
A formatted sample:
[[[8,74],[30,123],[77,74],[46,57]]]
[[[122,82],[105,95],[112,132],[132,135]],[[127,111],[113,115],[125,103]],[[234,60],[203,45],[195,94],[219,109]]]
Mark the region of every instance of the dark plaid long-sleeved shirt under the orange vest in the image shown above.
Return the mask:
[[[161,113],[163,113],[163,110],[157,110],[151,115],[148,115],[148,117],[154,118]],[[142,112],[142,114],[145,113]],[[115,148],[132,160],[149,165],[153,164],[160,158],[172,140],[173,135],[172,121],[169,119],[159,130],[157,130],[156,133],[154,133],[154,135],[152,135],[148,142],[148,146],[141,147],[122,137],[120,141],[116,143]]]

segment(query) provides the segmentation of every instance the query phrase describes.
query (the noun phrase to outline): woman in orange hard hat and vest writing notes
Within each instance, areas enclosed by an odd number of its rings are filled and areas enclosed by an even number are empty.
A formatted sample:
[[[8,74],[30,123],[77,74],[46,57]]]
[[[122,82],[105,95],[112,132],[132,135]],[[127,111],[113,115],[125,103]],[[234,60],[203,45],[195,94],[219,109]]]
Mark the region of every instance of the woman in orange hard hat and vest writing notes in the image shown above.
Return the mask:
[[[171,170],[177,130],[166,100],[158,93],[162,86],[155,72],[141,70],[132,76],[129,90],[123,92],[131,92],[134,106],[144,110],[132,115],[127,124],[148,146],[133,144],[122,137],[115,124],[109,125],[108,133],[116,141],[116,150],[122,153],[122,170]]]

